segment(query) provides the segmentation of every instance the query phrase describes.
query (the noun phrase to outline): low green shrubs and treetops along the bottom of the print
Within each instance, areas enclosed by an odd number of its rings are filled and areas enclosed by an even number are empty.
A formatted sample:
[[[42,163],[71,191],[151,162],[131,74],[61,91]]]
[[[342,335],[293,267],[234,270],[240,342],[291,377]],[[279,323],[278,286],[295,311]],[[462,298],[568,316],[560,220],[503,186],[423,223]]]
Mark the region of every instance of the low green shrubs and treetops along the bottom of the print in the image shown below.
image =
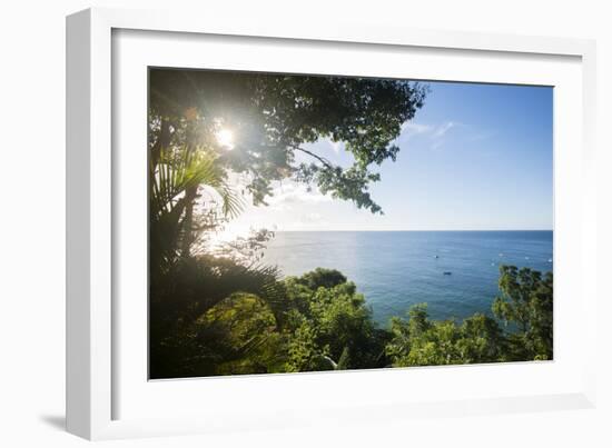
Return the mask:
[[[512,281],[514,267],[501,268],[501,290]],[[510,276],[507,278],[505,276]],[[531,278],[540,272],[524,270]],[[551,278],[552,276],[545,276]],[[406,318],[394,317],[377,328],[355,283],[334,269],[317,268],[300,277],[250,279],[223,276],[207,279],[217,299],[195,310],[191,319],[166,331],[155,345],[155,378],[210,375],[274,374],[383,367],[487,364],[552,359],[552,308],[533,307],[532,327],[522,315],[474,313],[463,321],[432,320],[425,303],[413,306]],[[195,285],[200,280],[195,279]],[[552,289],[540,282],[522,285],[532,300],[552,301]],[[234,290],[234,292],[228,292]],[[226,291],[225,293],[220,291]],[[206,297],[199,291],[195,297]],[[537,297],[537,299],[535,299]],[[500,299],[492,306],[499,315]],[[534,336],[535,335],[535,336]],[[156,335],[159,337],[159,335]]]

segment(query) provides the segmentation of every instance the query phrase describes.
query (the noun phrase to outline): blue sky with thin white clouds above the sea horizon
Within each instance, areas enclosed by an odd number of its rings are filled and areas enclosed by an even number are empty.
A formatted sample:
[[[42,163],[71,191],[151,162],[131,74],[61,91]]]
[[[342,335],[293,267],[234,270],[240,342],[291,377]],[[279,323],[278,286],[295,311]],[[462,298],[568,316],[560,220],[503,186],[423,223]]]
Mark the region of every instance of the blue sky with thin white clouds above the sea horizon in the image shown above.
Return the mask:
[[[425,106],[397,139],[397,161],[373,167],[382,180],[372,195],[384,216],[285,181],[269,207],[249,207],[233,232],[552,229],[553,89],[427,83]],[[342,143],[309,149],[352,160]]]

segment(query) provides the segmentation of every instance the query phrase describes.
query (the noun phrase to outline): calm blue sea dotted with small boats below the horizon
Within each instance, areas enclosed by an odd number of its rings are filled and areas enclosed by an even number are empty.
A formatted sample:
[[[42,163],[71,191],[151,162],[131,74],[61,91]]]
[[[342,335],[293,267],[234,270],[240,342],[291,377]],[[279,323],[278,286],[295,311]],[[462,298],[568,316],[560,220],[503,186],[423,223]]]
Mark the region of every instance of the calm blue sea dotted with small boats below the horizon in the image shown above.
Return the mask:
[[[264,262],[290,276],[338,269],[384,327],[419,302],[434,319],[490,313],[500,265],[544,272],[552,258],[552,231],[310,231],[277,232]]]

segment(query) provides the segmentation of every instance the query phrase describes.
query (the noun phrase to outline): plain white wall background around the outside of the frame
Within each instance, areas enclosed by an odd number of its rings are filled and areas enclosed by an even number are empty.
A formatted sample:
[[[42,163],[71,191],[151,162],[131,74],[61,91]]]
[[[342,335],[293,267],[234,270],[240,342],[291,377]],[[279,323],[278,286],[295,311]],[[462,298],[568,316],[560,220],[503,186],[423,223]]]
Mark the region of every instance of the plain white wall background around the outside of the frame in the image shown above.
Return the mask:
[[[610,103],[612,13],[606,1],[43,1],[4,2],[0,26],[0,445],[83,446],[62,430],[65,374],[65,16],[90,6],[194,8],[257,20],[338,20],[598,40],[600,288],[612,253]],[[452,74],[452,73],[451,73]],[[608,190],[606,190],[608,188]],[[593,260],[595,261],[595,260]],[[337,430],[287,430],[103,442],[108,446],[612,446],[612,307],[602,293],[596,410],[418,419]]]

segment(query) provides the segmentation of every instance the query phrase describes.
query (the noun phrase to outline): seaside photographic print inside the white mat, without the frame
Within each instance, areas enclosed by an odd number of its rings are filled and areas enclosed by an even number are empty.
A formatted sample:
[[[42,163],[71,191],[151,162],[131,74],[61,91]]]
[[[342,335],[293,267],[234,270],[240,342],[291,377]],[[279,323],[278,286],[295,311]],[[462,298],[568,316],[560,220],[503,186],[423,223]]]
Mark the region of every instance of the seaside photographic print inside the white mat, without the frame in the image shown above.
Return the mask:
[[[150,68],[149,378],[553,360],[552,90]]]

